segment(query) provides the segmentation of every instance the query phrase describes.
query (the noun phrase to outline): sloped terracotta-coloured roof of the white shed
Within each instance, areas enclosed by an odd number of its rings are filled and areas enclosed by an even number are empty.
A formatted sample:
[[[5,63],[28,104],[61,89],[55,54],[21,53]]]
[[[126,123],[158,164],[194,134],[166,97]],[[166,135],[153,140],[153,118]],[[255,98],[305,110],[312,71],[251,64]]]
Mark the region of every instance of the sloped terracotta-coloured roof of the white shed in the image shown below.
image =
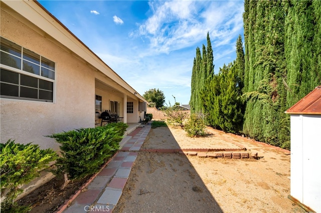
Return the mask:
[[[321,85],[316,86],[297,103],[285,111],[289,114],[321,114]]]

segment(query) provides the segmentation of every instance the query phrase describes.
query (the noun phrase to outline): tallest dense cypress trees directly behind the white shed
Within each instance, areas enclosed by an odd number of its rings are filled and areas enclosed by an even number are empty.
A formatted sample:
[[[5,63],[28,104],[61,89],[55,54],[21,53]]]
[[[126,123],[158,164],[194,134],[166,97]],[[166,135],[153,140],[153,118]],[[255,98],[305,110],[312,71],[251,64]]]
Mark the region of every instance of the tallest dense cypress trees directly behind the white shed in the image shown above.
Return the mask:
[[[321,83],[320,2],[244,3],[243,132],[289,148],[284,111]]]

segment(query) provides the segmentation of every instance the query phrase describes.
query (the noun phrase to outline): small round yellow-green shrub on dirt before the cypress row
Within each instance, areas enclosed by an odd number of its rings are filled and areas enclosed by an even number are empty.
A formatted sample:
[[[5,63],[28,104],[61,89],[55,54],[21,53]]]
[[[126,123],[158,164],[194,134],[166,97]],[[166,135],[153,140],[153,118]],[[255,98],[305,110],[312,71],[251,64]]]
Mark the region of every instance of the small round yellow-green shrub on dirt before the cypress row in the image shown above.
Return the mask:
[[[205,128],[204,119],[201,115],[195,113],[191,114],[189,120],[184,126],[187,135],[190,137],[206,135]]]

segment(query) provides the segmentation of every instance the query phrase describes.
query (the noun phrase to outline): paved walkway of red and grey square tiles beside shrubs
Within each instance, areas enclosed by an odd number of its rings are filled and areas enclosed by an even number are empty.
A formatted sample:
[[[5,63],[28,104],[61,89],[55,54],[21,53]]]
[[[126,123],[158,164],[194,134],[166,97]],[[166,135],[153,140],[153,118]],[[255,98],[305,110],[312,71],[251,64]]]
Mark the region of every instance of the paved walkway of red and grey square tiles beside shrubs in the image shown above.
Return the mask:
[[[111,212],[116,206],[122,190],[126,184],[131,167],[137,157],[138,150],[143,144],[151,125],[137,127],[123,138],[121,150],[100,170],[94,178],[90,179],[81,192],[73,199],[60,207],[58,212]],[[75,195],[74,195],[75,196]]]

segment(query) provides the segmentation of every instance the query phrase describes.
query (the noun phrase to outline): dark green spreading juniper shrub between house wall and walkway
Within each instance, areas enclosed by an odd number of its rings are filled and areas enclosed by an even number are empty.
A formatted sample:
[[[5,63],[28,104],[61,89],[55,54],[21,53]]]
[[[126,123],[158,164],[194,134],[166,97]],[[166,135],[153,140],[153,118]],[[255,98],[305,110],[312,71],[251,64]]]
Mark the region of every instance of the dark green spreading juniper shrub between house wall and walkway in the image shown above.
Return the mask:
[[[115,123],[48,135],[61,144],[62,156],[57,159],[57,171],[67,174],[69,179],[94,174],[119,149],[125,126]]]

